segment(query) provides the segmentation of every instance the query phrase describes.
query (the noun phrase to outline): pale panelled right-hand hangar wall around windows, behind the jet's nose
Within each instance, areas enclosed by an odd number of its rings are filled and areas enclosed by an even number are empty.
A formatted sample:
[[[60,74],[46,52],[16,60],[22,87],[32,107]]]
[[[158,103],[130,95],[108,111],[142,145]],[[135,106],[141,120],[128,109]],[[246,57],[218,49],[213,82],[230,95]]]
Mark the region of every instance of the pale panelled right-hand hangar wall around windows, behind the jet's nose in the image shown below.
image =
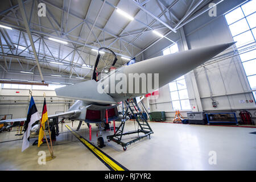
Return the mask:
[[[240,5],[242,2],[244,1],[224,1],[220,5],[217,5],[217,17],[210,17],[208,13],[204,13],[186,24],[176,34],[171,33],[168,38],[177,42],[179,51],[233,42],[223,14]],[[163,55],[163,49],[170,45],[171,42],[162,39],[147,49],[143,56],[145,59],[161,56]],[[229,51],[232,51],[232,49]],[[209,64],[205,67],[196,68],[194,71],[185,75],[185,80],[190,103],[192,107],[195,106],[195,109],[192,108],[192,111],[235,110],[237,111],[237,117],[239,117],[239,110],[247,109],[255,117],[255,102],[241,102],[241,100],[249,101],[254,100],[254,98],[253,94],[249,92],[250,86],[239,56]],[[216,109],[212,106],[211,95],[218,102]],[[172,121],[174,119],[175,111],[172,110],[168,85],[159,89],[159,98],[157,100],[150,100],[149,102],[150,111],[166,111],[167,120]],[[144,101],[144,104],[148,108],[148,102]],[[187,111],[182,110],[181,114],[186,117]]]

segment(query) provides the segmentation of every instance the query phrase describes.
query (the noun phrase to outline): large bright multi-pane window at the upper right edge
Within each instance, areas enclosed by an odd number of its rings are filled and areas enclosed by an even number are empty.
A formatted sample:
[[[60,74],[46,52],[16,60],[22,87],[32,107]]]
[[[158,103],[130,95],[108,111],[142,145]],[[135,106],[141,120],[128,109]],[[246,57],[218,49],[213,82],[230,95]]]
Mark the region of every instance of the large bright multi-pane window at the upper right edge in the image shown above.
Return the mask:
[[[237,7],[225,15],[229,30],[236,41],[236,46],[241,47],[256,41],[256,0],[251,0]],[[243,69],[251,89],[256,89],[256,49],[240,54]],[[253,92],[254,99],[256,92]]]

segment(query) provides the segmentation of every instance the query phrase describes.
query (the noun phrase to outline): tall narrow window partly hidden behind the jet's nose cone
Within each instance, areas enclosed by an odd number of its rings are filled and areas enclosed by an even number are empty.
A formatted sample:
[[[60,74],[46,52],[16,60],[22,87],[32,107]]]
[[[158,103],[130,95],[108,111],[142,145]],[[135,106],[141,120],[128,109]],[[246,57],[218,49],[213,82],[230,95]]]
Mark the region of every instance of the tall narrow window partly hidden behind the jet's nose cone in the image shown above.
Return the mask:
[[[179,52],[177,44],[174,44],[163,50],[163,55]],[[169,84],[172,109],[173,110],[189,110],[191,105],[188,99],[188,90],[185,82],[185,77],[181,76],[177,80],[170,82]]]

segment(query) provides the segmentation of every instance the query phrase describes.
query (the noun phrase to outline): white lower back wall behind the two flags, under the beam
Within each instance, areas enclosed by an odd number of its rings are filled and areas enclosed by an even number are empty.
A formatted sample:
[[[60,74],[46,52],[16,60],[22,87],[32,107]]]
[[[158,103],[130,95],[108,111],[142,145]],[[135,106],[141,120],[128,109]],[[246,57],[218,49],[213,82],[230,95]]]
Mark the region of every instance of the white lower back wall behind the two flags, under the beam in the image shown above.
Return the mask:
[[[54,90],[32,90],[32,96],[39,113],[42,113],[44,93],[46,93],[48,115],[67,111],[68,108],[74,103],[73,100],[56,97]],[[2,117],[3,115],[11,114],[13,119],[26,118],[29,104],[29,90],[0,89],[0,115]]]

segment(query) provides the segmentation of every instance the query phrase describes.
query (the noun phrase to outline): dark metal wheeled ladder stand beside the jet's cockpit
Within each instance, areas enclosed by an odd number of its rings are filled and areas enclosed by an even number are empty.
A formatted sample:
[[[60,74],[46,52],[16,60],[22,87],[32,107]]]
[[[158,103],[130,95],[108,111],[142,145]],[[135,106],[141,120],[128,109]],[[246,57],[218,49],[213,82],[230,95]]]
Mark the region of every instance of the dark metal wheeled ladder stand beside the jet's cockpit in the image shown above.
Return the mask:
[[[153,134],[153,131],[150,125],[148,124],[147,119],[144,117],[141,109],[139,108],[136,99],[131,98],[130,100],[125,100],[125,104],[126,104],[126,107],[123,106],[123,118],[126,118],[127,113],[130,110],[131,114],[133,114],[135,117],[135,121],[138,123],[138,130],[128,131],[126,133],[123,133],[123,129],[125,127],[125,121],[122,121],[121,125],[115,131],[114,135],[107,136],[108,141],[112,140],[113,142],[120,144],[123,147],[124,151],[126,150],[127,145],[134,143],[138,140],[141,140],[142,138],[145,138],[147,136],[150,139],[150,135]],[[124,135],[130,135],[135,133],[138,134],[137,138],[130,140],[129,142],[122,142],[122,137]],[[143,135],[140,136],[139,133],[143,133]]]

